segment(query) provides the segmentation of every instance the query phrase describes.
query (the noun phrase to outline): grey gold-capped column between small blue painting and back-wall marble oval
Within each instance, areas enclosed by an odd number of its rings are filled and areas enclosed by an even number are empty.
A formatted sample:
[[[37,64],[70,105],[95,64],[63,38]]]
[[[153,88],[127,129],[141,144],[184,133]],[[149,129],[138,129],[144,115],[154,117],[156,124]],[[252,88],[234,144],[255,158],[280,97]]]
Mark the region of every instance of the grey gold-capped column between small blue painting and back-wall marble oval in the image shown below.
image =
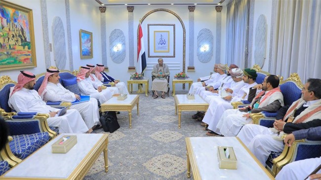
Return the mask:
[[[105,66],[105,71],[109,71],[107,66],[107,39],[106,39],[106,7],[100,6],[100,36],[101,36],[101,60]]]

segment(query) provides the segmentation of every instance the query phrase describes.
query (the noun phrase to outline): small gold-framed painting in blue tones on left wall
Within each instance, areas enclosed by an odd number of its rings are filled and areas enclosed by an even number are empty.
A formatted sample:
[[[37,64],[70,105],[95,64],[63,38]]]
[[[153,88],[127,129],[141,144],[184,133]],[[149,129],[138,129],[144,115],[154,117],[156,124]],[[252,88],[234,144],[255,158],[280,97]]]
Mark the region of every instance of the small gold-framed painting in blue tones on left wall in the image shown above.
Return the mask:
[[[92,58],[92,51],[92,33],[80,30],[80,59]]]

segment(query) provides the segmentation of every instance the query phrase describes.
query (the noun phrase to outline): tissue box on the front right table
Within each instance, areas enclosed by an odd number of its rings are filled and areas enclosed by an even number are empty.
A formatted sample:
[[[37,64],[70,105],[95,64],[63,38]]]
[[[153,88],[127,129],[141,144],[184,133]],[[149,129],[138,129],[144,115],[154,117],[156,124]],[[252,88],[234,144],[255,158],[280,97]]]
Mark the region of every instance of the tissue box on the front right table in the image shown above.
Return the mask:
[[[217,158],[220,169],[237,169],[237,159],[233,147],[217,147]]]

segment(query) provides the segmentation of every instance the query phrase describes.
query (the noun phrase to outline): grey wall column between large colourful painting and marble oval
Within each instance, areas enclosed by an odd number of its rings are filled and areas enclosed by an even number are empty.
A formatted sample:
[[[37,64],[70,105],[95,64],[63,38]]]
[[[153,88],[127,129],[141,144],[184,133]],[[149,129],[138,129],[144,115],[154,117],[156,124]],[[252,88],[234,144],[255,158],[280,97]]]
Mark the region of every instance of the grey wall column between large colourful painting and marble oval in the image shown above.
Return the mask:
[[[42,16],[41,23],[42,23],[44,59],[45,59],[46,68],[49,68],[51,66],[51,60],[50,60],[50,47],[49,47],[47,0],[40,0],[40,8],[41,8],[41,16]]]

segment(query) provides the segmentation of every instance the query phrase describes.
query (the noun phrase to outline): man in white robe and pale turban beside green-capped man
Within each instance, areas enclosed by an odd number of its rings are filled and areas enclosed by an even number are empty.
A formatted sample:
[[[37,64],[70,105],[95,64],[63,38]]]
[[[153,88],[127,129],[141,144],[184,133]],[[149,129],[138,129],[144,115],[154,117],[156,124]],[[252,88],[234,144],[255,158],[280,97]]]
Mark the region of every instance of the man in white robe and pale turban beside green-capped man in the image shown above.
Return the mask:
[[[239,68],[233,69],[231,76],[234,82],[231,83],[231,87],[222,89],[219,96],[206,97],[207,100],[209,99],[210,104],[203,118],[203,123],[208,124],[208,129],[211,130],[206,133],[207,136],[217,135],[212,130],[216,127],[223,112],[226,109],[233,108],[231,102],[248,99],[249,89],[257,84],[254,79],[248,78],[248,75],[245,75],[246,71],[242,71]],[[252,75],[255,76],[255,74],[256,72],[253,72]],[[205,130],[208,129],[205,128]]]

